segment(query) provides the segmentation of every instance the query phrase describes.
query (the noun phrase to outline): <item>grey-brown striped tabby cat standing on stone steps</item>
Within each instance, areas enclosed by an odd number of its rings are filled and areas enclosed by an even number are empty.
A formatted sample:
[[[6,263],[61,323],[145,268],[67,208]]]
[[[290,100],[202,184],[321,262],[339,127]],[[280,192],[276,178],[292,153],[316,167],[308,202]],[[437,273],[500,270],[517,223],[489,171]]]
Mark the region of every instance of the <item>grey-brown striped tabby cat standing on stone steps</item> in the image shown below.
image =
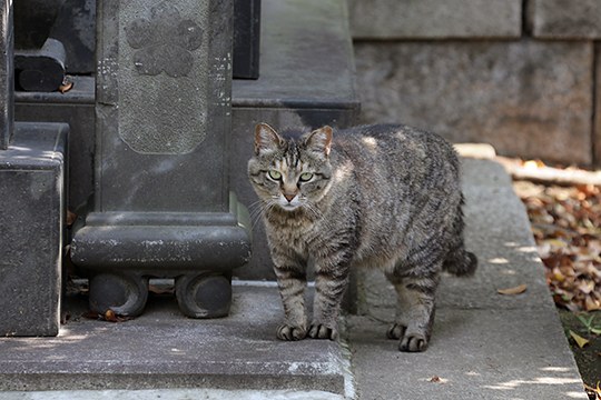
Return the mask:
[[[455,151],[441,137],[400,124],[277,133],[255,128],[248,176],[259,197],[285,321],[277,338],[335,339],[351,268],[377,267],[397,292],[387,337],[426,349],[440,272],[469,276]],[[306,268],[315,268],[311,324]]]

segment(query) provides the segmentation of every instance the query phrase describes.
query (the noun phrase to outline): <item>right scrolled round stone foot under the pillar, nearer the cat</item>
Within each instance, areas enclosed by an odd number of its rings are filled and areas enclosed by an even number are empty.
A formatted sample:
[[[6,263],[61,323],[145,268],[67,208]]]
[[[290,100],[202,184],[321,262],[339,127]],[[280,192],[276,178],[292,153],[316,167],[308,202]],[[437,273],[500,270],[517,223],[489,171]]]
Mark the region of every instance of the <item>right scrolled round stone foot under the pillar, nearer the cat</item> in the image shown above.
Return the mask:
[[[190,318],[227,317],[231,281],[223,274],[185,274],[176,280],[179,309]]]

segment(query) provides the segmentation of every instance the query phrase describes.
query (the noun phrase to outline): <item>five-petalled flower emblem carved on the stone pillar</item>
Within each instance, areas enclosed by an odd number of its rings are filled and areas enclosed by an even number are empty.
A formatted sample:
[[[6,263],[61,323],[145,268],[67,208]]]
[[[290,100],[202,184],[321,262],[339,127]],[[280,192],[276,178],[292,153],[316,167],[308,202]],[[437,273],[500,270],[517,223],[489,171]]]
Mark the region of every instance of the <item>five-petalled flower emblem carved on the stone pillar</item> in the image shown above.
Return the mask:
[[[150,9],[150,18],[138,18],[126,28],[127,42],[134,52],[134,64],[140,74],[187,76],[193,66],[191,51],[203,43],[203,29],[183,19],[177,8],[162,1]]]

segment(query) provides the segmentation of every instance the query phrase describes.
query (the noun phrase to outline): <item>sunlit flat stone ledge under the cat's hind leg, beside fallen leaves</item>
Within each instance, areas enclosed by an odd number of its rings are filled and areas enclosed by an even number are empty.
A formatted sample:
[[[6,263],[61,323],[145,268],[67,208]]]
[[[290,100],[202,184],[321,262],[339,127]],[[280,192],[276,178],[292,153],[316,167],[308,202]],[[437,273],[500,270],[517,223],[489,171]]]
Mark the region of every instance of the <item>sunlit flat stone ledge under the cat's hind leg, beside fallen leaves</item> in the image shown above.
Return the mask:
[[[479,270],[443,277],[430,347],[414,354],[385,339],[393,289],[359,274],[361,316],[347,327],[359,398],[587,399],[509,177],[486,160],[464,159],[463,172],[466,247]],[[519,284],[522,294],[496,291]]]

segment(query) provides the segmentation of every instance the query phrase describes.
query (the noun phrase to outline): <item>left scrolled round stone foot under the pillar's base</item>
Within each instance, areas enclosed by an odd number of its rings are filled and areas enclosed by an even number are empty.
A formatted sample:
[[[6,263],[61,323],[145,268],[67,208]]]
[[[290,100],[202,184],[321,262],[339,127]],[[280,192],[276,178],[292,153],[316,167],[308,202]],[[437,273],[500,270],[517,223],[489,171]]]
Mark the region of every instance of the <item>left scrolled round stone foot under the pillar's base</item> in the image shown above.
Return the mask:
[[[90,279],[90,310],[105,314],[139,316],[148,299],[148,278],[100,273]]]

